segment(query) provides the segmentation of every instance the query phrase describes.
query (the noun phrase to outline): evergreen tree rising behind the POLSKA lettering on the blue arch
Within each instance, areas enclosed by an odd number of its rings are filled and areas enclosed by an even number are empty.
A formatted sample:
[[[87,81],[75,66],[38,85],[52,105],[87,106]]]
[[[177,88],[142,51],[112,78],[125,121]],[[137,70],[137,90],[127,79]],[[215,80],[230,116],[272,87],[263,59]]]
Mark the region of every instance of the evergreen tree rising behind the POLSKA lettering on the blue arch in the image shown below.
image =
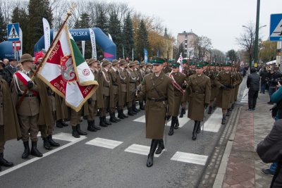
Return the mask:
[[[75,22],[75,28],[90,28],[90,15],[87,13],[82,13],[80,15],[80,20],[77,20]],[[78,44],[78,47],[82,51],[82,44],[81,42],[76,42]],[[85,58],[91,58],[92,56],[92,45],[90,41],[85,41]]]

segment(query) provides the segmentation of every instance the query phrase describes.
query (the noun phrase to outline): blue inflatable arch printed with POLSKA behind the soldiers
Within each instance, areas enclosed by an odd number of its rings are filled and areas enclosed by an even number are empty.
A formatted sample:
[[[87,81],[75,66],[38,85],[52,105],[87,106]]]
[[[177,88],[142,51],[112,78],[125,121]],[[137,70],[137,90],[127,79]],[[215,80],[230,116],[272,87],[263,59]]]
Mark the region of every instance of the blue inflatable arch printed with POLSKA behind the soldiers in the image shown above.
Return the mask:
[[[113,61],[116,58],[116,44],[107,37],[104,32],[99,27],[92,28],[95,34],[96,44],[99,45],[104,51],[104,58],[109,61]],[[73,29],[70,30],[71,35],[75,41],[90,40],[90,30],[89,29]],[[51,30],[51,40],[53,39],[53,30]],[[39,41],[35,44],[35,54],[38,51],[44,49],[44,36],[42,36]],[[0,43],[0,58],[11,58],[13,57],[13,47],[12,42],[1,42]]]

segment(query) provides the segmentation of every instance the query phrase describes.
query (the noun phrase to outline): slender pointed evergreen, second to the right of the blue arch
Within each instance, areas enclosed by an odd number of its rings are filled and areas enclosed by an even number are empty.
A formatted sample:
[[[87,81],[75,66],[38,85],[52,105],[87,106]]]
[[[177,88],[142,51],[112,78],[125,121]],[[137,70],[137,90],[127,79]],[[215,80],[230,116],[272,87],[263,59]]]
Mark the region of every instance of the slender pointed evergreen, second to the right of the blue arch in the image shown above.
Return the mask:
[[[124,56],[132,58],[132,50],[135,48],[133,40],[133,23],[130,14],[126,16],[123,24],[123,49]]]

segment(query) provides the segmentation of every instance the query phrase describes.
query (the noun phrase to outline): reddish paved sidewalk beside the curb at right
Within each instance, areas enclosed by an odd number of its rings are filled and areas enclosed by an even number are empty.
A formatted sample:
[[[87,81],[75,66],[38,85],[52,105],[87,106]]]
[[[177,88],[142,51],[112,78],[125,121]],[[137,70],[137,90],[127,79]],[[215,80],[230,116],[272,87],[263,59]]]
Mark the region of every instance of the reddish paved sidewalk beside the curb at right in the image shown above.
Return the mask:
[[[233,144],[229,149],[226,146],[225,153],[230,152],[228,163],[224,165],[221,161],[223,168],[226,168],[221,187],[270,186],[272,177],[263,175],[260,171],[262,168],[269,168],[270,164],[263,163],[256,153],[257,144],[266,137],[274,123],[268,101],[269,95],[266,92],[266,94],[259,94],[255,111],[247,111],[247,103],[241,107],[238,125],[233,130],[234,140],[229,139],[229,142]]]

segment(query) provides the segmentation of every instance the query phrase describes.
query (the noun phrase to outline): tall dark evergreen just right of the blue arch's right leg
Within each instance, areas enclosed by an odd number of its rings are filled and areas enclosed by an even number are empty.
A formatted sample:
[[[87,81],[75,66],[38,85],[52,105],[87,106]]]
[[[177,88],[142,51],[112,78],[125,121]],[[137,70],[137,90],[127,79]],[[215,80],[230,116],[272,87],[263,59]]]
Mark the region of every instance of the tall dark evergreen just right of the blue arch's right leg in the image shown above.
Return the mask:
[[[116,44],[116,58],[123,58],[123,39],[121,34],[121,22],[116,13],[111,13],[109,18],[109,34]]]

